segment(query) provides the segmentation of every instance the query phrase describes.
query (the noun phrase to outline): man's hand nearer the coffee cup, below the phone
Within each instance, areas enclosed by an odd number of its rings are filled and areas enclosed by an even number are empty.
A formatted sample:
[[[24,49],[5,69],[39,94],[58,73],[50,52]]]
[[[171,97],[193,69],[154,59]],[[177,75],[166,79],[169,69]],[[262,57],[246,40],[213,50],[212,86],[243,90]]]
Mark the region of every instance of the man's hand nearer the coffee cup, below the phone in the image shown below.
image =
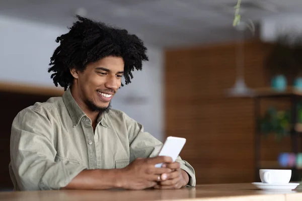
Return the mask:
[[[180,169],[178,162],[163,164],[162,167],[167,167],[172,170],[171,173],[163,173],[161,179],[154,188],[157,189],[179,189],[187,185],[189,175],[186,171]]]

